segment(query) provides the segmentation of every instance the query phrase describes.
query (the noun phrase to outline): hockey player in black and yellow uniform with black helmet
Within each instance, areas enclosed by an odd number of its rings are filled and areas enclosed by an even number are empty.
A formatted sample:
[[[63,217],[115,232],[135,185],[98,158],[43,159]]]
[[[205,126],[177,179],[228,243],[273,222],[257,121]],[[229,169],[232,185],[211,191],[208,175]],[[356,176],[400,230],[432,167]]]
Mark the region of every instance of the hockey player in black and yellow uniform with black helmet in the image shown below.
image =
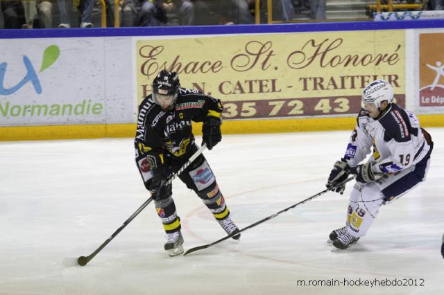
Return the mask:
[[[171,185],[164,184],[169,174],[177,172],[198,150],[191,121],[203,122],[203,143],[209,150],[221,141],[223,106],[221,100],[180,87],[175,72],[160,71],[152,88],[151,95],[139,106],[135,159],[146,189],[153,194],[157,215],[167,233],[164,249],[170,256],[176,256],[183,252],[180,217],[176,213]],[[196,192],[228,234],[239,231],[230,219],[216,178],[202,154],[179,178]],[[240,233],[233,238],[238,240]]]

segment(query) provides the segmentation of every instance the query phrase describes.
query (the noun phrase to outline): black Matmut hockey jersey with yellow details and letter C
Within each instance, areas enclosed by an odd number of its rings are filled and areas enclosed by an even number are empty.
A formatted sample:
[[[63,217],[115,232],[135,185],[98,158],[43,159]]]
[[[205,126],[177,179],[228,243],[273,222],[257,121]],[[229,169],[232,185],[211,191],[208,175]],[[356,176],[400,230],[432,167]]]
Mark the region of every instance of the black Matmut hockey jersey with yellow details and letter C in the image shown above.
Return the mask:
[[[162,158],[165,152],[173,157],[187,154],[194,141],[191,121],[202,122],[207,116],[220,118],[222,110],[221,100],[192,89],[179,89],[173,111],[162,111],[151,95],[147,96],[140,104],[137,116],[137,157],[150,154]]]

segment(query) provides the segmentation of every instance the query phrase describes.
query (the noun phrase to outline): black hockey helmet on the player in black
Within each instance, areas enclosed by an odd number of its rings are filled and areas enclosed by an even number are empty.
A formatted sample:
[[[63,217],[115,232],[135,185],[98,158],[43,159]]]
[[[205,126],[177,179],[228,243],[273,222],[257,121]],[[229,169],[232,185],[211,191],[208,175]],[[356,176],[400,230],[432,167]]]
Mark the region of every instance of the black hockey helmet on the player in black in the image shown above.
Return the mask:
[[[176,103],[179,93],[179,76],[176,72],[170,72],[166,70],[160,71],[153,80],[152,96],[157,105],[160,105],[157,101],[157,94],[164,96],[173,96],[173,105]]]

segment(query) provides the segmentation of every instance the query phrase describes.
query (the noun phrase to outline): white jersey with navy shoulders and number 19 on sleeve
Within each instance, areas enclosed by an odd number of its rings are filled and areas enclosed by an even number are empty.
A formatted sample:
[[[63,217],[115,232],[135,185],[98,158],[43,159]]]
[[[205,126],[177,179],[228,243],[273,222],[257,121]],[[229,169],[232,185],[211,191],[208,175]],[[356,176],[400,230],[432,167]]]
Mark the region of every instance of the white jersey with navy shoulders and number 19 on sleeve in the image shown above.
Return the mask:
[[[361,109],[344,159],[350,167],[356,167],[370,154],[371,147],[373,155],[369,160],[377,162],[373,172],[386,174],[414,166],[430,148],[418,118],[394,103],[377,119]]]

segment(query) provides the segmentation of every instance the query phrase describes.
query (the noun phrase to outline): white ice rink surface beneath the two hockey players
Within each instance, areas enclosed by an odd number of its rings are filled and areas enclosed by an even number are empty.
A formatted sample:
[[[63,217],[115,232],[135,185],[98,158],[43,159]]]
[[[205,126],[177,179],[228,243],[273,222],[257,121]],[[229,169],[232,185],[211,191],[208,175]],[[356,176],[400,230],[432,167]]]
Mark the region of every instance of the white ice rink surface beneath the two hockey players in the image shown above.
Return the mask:
[[[326,193],[240,242],[173,258],[149,204],[85,267],[67,262],[92,253],[148,199],[133,139],[0,143],[0,294],[444,294],[444,129],[427,130],[427,181],[383,206],[351,249],[326,243],[345,222],[348,184],[345,195]],[[324,190],[349,135],[227,135],[204,154],[242,229]],[[185,250],[225,236],[180,179],[173,197]],[[342,285],[325,287],[333,280]],[[382,281],[413,286],[370,286]]]

